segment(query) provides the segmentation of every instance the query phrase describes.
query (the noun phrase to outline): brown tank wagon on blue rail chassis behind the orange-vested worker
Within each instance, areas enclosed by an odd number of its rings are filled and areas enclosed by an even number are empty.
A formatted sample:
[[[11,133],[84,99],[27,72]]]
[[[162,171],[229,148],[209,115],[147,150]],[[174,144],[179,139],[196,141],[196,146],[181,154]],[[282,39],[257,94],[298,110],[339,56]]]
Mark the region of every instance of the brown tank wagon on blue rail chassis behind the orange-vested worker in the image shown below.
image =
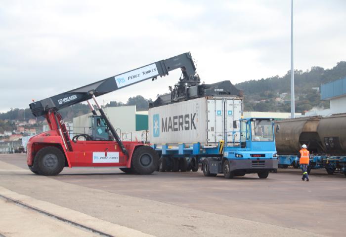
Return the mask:
[[[275,121],[275,143],[279,167],[299,167],[302,144],[311,153],[310,169],[325,168],[328,174],[346,176],[346,114],[329,117],[306,117]],[[308,170],[308,172],[310,171]]]

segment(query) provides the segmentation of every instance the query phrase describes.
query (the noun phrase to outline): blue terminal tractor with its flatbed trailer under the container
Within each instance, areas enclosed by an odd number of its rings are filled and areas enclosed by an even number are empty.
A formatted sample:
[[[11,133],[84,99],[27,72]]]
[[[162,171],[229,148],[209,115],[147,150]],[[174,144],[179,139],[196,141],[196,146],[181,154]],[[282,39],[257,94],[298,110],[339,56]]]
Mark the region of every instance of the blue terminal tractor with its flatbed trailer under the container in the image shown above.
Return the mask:
[[[272,170],[278,167],[274,139],[274,121],[272,118],[241,118],[233,121],[232,142],[220,140],[217,146],[202,146],[195,143],[186,146],[162,145],[153,148],[161,155],[160,171],[170,162],[173,166],[187,158],[193,171],[198,170],[202,161],[205,176],[224,175],[225,178],[257,173],[259,178],[267,178]],[[239,137],[240,139],[235,139]]]

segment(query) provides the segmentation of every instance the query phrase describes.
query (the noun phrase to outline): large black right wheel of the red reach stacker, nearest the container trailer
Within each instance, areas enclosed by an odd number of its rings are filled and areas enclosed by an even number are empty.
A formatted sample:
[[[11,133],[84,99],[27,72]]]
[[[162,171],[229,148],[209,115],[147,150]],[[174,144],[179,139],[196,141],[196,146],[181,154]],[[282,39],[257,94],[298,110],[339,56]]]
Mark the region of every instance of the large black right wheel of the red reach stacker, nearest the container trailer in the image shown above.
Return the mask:
[[[134,150],[131,167],[138,174],[152,174],[159,165],[159,156],[149,146],[140,146]]]

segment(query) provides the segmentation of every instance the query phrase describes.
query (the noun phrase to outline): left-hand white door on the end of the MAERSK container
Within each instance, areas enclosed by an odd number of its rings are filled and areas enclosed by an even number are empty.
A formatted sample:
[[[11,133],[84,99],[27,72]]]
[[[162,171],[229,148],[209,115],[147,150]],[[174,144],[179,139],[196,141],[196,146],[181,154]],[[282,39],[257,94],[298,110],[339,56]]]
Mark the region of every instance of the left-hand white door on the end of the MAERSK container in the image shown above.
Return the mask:
[[[207,143],[224,140],[224,104],[222,99],[207,100]]]

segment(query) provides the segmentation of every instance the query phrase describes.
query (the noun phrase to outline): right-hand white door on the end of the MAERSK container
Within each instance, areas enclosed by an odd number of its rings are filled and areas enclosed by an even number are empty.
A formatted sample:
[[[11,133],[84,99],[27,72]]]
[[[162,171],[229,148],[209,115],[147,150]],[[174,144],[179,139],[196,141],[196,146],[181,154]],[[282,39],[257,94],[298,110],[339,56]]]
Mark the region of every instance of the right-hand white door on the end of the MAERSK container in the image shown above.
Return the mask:
[[[239,143],[239,119],[242,116],[242,102],[239,99],[225,99],[225,131],[227,142]],[[233,121],[237,121],[237,128],[233,128]],[[237,132],[238,131],[238,132]],[[232,135],[234,132],[234,135]]]

